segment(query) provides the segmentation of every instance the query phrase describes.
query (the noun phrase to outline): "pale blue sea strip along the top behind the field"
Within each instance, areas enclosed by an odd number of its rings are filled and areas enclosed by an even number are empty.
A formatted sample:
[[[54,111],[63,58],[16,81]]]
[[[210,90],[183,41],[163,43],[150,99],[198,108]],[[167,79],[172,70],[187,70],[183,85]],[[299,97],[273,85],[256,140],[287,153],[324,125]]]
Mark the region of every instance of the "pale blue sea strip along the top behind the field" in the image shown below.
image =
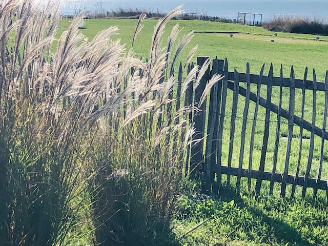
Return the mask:
[[[273,15],[319,16],[328,19],[328,0],[61,0],[61,11],[73,14],[78,10],[102,8],[141,8],[168,12],[185,4],[186,12],[237,18],[238,12],[262,13],[263,19]]]

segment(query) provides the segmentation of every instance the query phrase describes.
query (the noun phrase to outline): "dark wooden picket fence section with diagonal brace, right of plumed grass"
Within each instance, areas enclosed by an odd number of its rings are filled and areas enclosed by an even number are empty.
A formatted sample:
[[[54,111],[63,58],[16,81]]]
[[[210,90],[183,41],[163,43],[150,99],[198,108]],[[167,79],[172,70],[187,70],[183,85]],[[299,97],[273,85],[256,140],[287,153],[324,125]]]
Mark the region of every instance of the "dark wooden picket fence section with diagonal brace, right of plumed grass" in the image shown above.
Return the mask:
[[[197,65],[202,66],[208,57],[197,57]],[[284,197],[286,195],[287,185],[291,185],[290,196],[293,197],[296,186],[302,187],[302,197],[305,196],[306,189],[313,188],[313,197],[317,195],[318,190],[326,191],[326,196],[328,198],[328,181],[321,180],[321,174],[323,169],[324,162],[324,140],[328,139],[328,132],[326,132],[326,118],[327,118],[327,106],[328,106],[328,72],[325,76],[325,82],[320,83],[316,79],[316,73],[313,70],[313,80],[308,80],[308,69],[305,69],[304,78],[296,79],[294,75],[294,69],[291,68],[290,77],[283,77],[282,66],[280,68],[280,76],[275,77],[273,72],[273,66],[270,66],[269,74],[264,75],[264,65],[258,75],[250,73],[250,66],[247,64],[247,72],[239,73],[235,69],[234,71],[229,71],[228,60],[214,59],[212,62],[212,68],[208,68],[208,71],[201,78],[200,86],[193,90],[193,86],[190,86],[186,93],[186,104],[194,105],[201,109],[201,111],[195,111],[190,114],[190,121],[194,123],[196,132],[193,135],[193,138],[199,139],[203,138],[202,141],[199,141],[198,144],[191,146],[190,153],[188,153],[186,170],[191,177],[201,176],[204,180],[204,187],[210,190],[213,189],[217,191],[222,183],[222,175],[227,175],[226,182],[228,185],[231,183],[231,176],[236,178],[236,186],[240,187],[240,182],[242,177],[248,179],[248,187],[251,188],[251,180],[256,179],[255,190],[260,192],[262,181],[270,181],[270,190],[273,192],[274,183],[281,183],[280,195]],[[222,74],[224,78],[216,83],[210,93],[210,98],[208,101],[204,101],[202,105],[198,105],[200,101],[200,96],[208,83],[209,79],[213,74]],[[251,87],[255,87],[256,93],[251,91]],[[261,97],[261,88],[266,87],[266,98]],[[278,105],[272,102],[272,92],[273,88],[279,88],[279,103]],[[283,100],[283,88],[289,88],[289,109],[285,110],[282,108]],[[301,101],[301,116],[295,115],[295,89],[301,89],[302,91],[302,101]],[[228,91],[232,91],[232,101],[227,99]],[[262,89],[263,90],[263,89]],[[306,91],[311,90],[312,93],[312,122],[306,121],[304,119],[304,106],[307,101]],[[317,112],[317,91],[324,92],[324,111]],[[262,93],[263,94],[263,93]],[[237,109],[238,98],[244,98],[244,107],[242,115],[242,126],[238,130],[240,134],[240,145],[238,143],[237,153],[239,158],[236,161],[233,159],[233,150],[236,146],[236,118],[237,118]],[[311,99],[311,98],[310,98]],[[209,103],[209,105],[207,105]],[[251,122],[248,115],[250,104],[254,103],[254,117],[252,117]],[[231,114],[227,111],[227,105],[230,105]],[[254,106],[254,105],[253,105]],[[265,109],[265,119],[264,120],[264,129],[262,137],[262,146],[260,158],[255,159],[253,156],[254,153],[254,139],[255,136],[258,137],[256,133],[256,127],[258,122],[258,111],[260,108]],[[274,121],[272,120],[272,113],[276,114]],[[322,127],[317,127],[316,116],[318,113],[323,115]],[[222,153],[222,142],[223,138],[223,129],[224,124],[227,124],[227,117],[230,119],[230,139],[229,139],[229,153]],[[283,161],[283,172],[277,172],[277,161],[278,154],[281,153],[281,143],[279,147],[279,141],[281,140],[281,124],[282,119],[288,120],[288,134],[286,136],[286,146],[284,149],[284,161]],[[272,127],[272,122],[275,122],[275,128]],[[250,124],[251,123],[251,124]],[[299,144],[298,144],[298,161],[296,163],[296,171],[293,175],[290,174],[290,157],[291,153],[295,149],[292,148],[292,139],[293,128],[294,126],[299,127]],[[300,166],[301,166],[301,156],[302,156],[302,147],[303,147],[303,136],[304,130],[309,131],[310,134],[310,145],[308,158],[306,160],[306,171],[303,176],[300,176]],[[246,137],[246,134],[250,136]],[[268,158],[268,141],[269,136],[275,135],[274,142],[274,151],[273,157]],[[321,146],[319,160],[314,160],[314,148],[315,148],[315,136],[320,137]],[[250,137],[249,142],[245,142],[245,139]],[[239,139],[238,139],[239,140]],[[280,141],[281,142],[281,141]],[[249,147],[248,147],[249,146]],[[248,147],[245,149],[245,147]],[[249,153],[247,153],[249,151]],[[248,168],[243,168],[244,156],[245,153],[249,155],[247,160]],[[228,155],[226,160],[222,160],[222,154]],[[236,154],[235,154],[236,155]],[[258,168],[254,170],[254,163]],[[234,162],[234,163],[233,163]],[[314,166],[314,163],[317,163],[316,178],[310,178],[311,168]],[[233,167],[235,164],[235,167]],[[238,167],[236,167],[238,164]],[[265,171],[270,166],[271,172]]]

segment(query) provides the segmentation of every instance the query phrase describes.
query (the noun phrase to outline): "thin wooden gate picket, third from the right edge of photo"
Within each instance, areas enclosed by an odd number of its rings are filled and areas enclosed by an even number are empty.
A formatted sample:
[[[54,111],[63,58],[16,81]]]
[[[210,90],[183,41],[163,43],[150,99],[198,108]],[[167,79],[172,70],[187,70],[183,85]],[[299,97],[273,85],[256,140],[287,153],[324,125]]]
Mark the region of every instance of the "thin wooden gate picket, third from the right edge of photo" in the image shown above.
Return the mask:
[[[297,167],[296,167],[296,173],[294,178],[294,183],[292,186],[291,191],[291,198],[294,197],[295,189],[296,189],[296,180],[298,179],[299,175],[299,169],[301,165],[301,158],[302,158],[302,145],[303,145],[303,119],[304,119],[304,106],[305,106],[305,83],[306,83],[306,77],[308,76],[308,68],[305,68],[304,71],[304,78],[303,78],[303,86],[302,86],[302,106],[301,106],[301,126],[299,128],[299,151],[298,151],[298,160],[297,160]]]

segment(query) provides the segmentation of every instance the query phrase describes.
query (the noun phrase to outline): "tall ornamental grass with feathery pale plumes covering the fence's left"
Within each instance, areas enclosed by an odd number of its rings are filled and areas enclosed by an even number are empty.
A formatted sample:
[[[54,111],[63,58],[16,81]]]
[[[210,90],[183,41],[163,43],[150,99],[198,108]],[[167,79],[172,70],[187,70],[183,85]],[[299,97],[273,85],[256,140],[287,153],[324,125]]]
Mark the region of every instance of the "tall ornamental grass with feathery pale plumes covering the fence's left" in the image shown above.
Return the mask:
[[[97,244],[144,245],[167,231],[193,132],[191,109],[169,96],[193,34],[174,50],[172,32],[161,46],[181,7],[158,22],[142,61],[112,40],[117,27],[89,40],[78,29],[83,15],[56,39],[55,2],[1,5],[0,245],[74,244],[77,232]]]

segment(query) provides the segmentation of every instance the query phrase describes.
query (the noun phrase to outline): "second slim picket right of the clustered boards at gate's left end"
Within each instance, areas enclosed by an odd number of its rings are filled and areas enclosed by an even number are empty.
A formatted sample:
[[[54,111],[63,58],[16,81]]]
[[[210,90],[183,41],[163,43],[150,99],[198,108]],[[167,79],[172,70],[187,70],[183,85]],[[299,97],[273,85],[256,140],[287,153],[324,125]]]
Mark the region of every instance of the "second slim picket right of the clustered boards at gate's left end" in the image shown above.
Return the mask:
[[[237,189],[240,186],[240,178],[241,178],[241,169],[242,169],[242,162],[244,156],[244,147],[245,147],[245,134],[246,134],[246,127],[247,127],[247,117],[248,111],[250,108],[250,94],[251,94],[251,77],[250,77],[250,64],[246,64],[246,74],[247,76],[247,86],[246,86],[246,97],[245,97],[245,107],[242,116],[242,127],[241,127],[241,143],[240,143],[240,152],[239,152],[239,163],[238,163],[238,176],[237,176]]]

